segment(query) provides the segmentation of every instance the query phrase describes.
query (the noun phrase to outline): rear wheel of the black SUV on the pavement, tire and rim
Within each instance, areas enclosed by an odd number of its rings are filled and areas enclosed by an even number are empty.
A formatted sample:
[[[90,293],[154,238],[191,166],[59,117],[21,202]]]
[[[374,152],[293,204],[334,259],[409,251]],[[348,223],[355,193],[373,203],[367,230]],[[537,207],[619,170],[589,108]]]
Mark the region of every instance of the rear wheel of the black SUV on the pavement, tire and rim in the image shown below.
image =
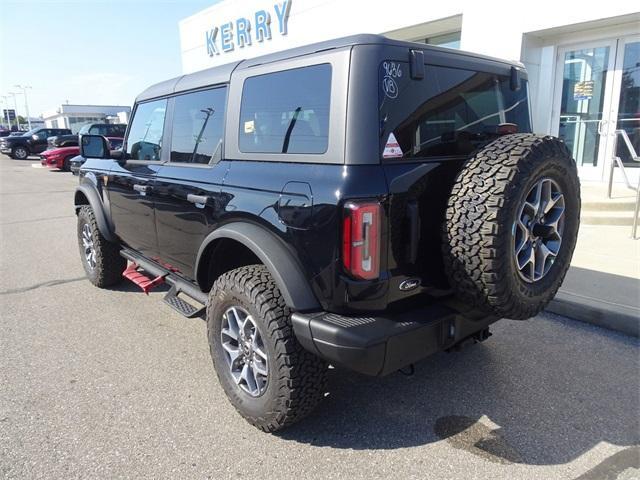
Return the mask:
[[[327,364],[298,343],[290,316],[264,265],[223,274],[209,293],[207,333],[220,384],[265,432],[308,415],[326,391]]]

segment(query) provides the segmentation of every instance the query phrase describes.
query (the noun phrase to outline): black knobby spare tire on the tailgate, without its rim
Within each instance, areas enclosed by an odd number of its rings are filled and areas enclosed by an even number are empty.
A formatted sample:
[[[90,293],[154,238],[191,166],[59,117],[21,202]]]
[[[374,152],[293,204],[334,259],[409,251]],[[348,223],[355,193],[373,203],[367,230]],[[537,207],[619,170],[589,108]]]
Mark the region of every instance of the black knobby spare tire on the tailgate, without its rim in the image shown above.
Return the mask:
[[[541,178],[552,179],[563,192],[564,231],[548,273],[528,283],[518,275],[513,225],[519,206]],[[533,317],[564,280],[579,221],[580,184],[565,144],[550,136],[503,136],[474,155],[455,180],[442,232],[449,283],[461,299],[498,317]]]

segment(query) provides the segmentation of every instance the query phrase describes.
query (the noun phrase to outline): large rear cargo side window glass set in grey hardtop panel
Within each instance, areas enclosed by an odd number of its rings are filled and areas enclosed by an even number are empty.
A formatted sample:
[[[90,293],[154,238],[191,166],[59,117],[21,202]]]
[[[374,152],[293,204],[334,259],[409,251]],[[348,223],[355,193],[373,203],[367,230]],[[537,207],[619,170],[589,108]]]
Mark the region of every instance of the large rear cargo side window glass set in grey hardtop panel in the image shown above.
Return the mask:
[[[247,78],[240,107],[240,151],[325,153],[330,102],[329,64]]]

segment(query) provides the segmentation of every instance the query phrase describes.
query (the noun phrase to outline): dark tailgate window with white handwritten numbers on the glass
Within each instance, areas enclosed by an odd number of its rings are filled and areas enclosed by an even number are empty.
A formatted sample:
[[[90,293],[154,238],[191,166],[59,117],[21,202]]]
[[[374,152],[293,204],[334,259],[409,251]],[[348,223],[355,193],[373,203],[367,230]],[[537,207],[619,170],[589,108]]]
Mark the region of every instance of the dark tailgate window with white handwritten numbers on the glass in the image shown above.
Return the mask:
[[[505,123],[531,131],[526,82],[513,91],[509,75],[426,65],[412,80],[408,63],[383,62],[379,85],[383,158],[468,155]]]

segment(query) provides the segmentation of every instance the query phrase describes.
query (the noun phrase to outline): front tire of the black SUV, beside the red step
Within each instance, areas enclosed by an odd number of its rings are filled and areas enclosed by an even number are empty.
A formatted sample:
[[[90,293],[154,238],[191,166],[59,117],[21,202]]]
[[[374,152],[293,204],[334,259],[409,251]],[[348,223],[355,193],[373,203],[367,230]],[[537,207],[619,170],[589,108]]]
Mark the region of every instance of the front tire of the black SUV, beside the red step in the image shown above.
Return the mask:
[[[89,225],[93,238],[96,254],[96,266],[93,269],[85,258],[82,245],[82,229],[84,225]],[[96,287],[110,287],[122,281],[122,272],[127,266],[127,261],[120,255],[120,246],[109,242],[102,236],[93,209],[89,205],[83,205],[78,211],[78,246],[82,266],[87,278]]]

